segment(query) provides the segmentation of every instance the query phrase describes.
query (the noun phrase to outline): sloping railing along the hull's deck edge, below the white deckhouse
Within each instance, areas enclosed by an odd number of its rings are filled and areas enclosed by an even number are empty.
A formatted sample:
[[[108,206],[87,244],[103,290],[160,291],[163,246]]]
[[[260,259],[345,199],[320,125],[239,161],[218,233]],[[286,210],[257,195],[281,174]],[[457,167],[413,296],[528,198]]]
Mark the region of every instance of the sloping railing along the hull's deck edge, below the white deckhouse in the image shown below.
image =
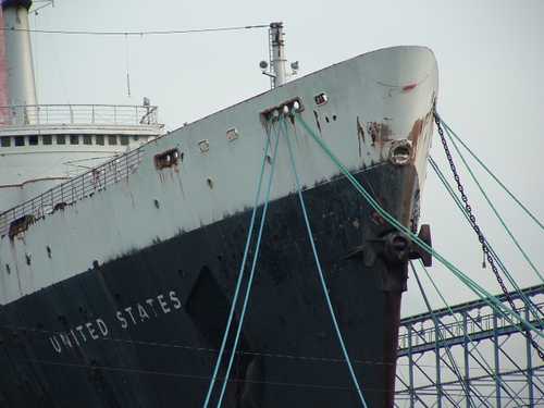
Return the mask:
[[[136,172],[143,154],[143,148],[134,149],[1,213],[0,236],[10,232],[14,221],[26,219],[33,223],[127,178]]]

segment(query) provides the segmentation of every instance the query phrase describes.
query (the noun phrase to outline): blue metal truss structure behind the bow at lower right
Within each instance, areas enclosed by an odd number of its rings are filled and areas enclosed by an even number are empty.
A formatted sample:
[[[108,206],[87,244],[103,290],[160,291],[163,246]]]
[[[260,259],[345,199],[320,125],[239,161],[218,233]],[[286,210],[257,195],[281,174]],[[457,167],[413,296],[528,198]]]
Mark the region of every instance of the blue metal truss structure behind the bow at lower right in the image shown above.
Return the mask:
[[[544,284],[522,292],[541,318],[511,293],[518,313],[544,329]],[[396,390],[398,408],[542,407],[544,361],[515,325],[475,300],[403,319]]]

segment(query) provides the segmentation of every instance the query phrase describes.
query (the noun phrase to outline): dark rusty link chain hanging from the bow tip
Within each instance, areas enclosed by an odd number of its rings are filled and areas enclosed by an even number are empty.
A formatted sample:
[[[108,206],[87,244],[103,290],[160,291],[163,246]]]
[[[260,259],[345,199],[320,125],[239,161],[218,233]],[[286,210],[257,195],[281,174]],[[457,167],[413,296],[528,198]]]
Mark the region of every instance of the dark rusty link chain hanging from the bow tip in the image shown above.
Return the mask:
[[[495,260],[493,259],[490,247],[487,246],[487,242],[485,240],[485,236],[482,233],[482,230],[477,223],[475,215],[472,213],[472,207],[469,203],[469,198],[467,197],[467,194],[465,193],[465,187],[461,184],[461,178],[459,177],[459,173],[457,173],[457,168],[454,163],[454,159],[452,157],[452,152],[449,151],[449,147],[447,145],[446,137],[444,136],[444,129],[442,128],[441,124],[441,119],[436,114],[436,111],[433,112],[434,115],[434,122],[436,123],[436,127],[438,129],[438,135],[441,137],[442,146],[444,147],[444,152],[446,153],[447,161],[449,162],[449,168],[452,169],[452,173],[454,174],[454,180],[457,184],[457,189],[459,190],[459,194],[461,195],[461,200],[465,203],[465,210],[467,211],[467,215],[470,220],[470,225],[472,226],[472,230],[474,230],[474,233],[478,235],[478,240],[482,245],[482,250],[484,254],[485,259],[487,259],[487,262],[491,265],[491,269],[493,273],[495,274],[495,277],[500,285],[500,289],[503,290],[503,294],[506,297],[506,300],[508,301],[508,305],[510,305],[510,308],[516,311],[516,305],[514,304],[514,299],[510,296],[510,293],[508,292],[503,277],[500,277],[500,274],[498,273],[497,267],[495,264]],[[526,327],[524,332],[521,332],[531,343],[531,345],[534,347],[536,353],[539,354],[540,358],[544,360],[544,353],[540,348],[539,344],[534,341],[534,338],[531,335],[531,332],[528,327]]]

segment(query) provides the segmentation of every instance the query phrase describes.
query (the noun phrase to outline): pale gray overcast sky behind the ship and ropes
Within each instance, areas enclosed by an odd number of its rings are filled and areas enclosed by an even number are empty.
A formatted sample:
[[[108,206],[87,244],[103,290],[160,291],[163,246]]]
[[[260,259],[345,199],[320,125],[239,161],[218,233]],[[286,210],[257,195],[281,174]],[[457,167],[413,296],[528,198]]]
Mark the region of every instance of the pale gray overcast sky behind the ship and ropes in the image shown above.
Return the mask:
[[[440,66],[438,110],[522,201],[544,219],[544,2],[533,1],[176,1],[55,0],[32,16],[41,29],[186,29],[283,21],[289,60],[300,74],[396,45],[433,49]],[[190,122],[269,87],[258,62],[268,59],[267,30],[123,37],[33,35],[41,103],[132,103],[151,98],[168,128]],[[128,55],[128,57],[127,57]],[[132,97],[126,92],[126,70]],[[440,140],[431,153],[447,171]],[[460,164],[459,164],[460,165]],[[447,173],[449,175],[449,173]],[[478,172],[484,177],[483,173]],[[462,177],[467,185],[468,175]],[[543,270],[543,232],[484,177],[484,185]],[[474,188],[475,213],[522,286],[537,283]],[[434,247],[462,271],[498,290],[482,270],[475,237],[461,222],[432,170],[422,221]],[[441,267],[430,272],[450,302],[473,295]],[[415,280],[404,314],[421,311]],[[431,295],[430,285],[426,284]],[[433,306],[440,306],[434,296]]]

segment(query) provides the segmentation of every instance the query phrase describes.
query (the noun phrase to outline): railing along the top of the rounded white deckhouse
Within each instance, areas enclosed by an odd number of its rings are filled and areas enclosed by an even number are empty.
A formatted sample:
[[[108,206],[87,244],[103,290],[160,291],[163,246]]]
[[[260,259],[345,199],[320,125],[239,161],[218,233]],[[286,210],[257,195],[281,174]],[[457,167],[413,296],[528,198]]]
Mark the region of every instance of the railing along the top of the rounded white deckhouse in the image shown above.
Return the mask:
[[[25,104],[0,107],[0,126],[149,125],[157,126],[158,108],[118,104]]]

